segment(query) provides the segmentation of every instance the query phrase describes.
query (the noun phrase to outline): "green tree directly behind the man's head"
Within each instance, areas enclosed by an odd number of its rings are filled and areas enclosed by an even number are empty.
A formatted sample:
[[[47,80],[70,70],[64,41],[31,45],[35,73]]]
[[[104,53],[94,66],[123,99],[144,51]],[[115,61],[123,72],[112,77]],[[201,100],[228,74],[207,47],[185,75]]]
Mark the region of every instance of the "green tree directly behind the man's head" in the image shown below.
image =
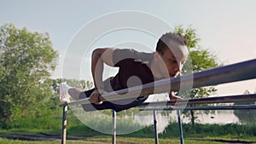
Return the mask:
[[[175,28],[175,32],[182,34],[184,37],[188,39],[188,49],[189,49],[189,61],[184,64],[182,73],[191,73],[191,72],[199,72],[204,69],[209,69],[215,66],[218,66],[218,62],[216,60],[216,56],[212,55],[208,49],[201,49],[200,38],[198,37],[195,29],[189,27],[184,28],[183,26],[177,26]],[[196,88],[188,91],[180,92],[178,95],[182,95],[183,97],[194,99],[207,97],[208,95],[212,95],[212,93],[216,92],[217,89],[214,86],[204,87],[204,88]],[[195,124],[195,115],[194,111],[190,111],[191,114],[191,123]]]

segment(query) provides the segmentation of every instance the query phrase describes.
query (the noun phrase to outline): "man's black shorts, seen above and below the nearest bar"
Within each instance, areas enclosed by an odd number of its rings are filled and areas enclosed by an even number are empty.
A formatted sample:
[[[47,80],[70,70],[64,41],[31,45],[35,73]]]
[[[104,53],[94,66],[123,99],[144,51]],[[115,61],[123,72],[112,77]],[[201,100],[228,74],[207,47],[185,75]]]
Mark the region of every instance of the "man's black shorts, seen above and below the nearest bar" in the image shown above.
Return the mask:
[[[85,95],[84,96],[80,95],[80,99],[90,97],[91,93],[94,90],[95,89],[84,91]],[[119,100],[119,101],[103,101],[102,104],[100,105],[91,103],[91,104],[82,104],[82,107],[86,112],[96,111],[96,110],[105,110],[105,109],[113,109],[115,112],[120,112],[122,110],[129,109],[131,107],[137,107],[143,104],[143,102],[146,101],[147,98],[148,96],[143,96],[139,98],[131,98],[131,99],[125,99],[125,100]]]

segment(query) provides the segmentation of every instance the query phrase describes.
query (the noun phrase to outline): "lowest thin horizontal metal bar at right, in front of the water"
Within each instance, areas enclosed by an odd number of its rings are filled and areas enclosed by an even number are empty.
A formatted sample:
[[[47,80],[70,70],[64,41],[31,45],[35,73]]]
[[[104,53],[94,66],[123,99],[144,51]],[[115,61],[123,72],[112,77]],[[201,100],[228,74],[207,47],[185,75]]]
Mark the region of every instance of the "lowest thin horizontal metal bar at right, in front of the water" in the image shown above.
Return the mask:
[[[256,105],[233,105],[233,106],[212,106],[212,107],[149,107],[141,108],[140,111],[172,111],[172,110],[238,110],[256,109]]]

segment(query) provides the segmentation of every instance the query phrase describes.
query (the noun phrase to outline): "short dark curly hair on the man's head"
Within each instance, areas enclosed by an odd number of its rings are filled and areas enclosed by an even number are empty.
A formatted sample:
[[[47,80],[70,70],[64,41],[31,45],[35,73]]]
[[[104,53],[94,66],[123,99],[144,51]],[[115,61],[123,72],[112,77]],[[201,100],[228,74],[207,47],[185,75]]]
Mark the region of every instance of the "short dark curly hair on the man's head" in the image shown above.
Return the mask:
[[[156,51],[160,54],[163,54],[164,51],[169,48],[166,43],[169,43],[170,41],[177,42],[184,46],[188,45],[188,40],[180,33],[168,32],[166,34],[163,34],[158,40],[156,44]]]

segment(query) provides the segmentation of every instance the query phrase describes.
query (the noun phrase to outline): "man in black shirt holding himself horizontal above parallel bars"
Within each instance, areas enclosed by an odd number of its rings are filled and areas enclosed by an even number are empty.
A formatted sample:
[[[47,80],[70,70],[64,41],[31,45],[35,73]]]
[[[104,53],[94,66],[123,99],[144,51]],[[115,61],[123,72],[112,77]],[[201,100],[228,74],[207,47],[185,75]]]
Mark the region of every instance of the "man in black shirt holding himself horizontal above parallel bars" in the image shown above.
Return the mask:
[[[189,52],[187,40],[180,34],[169,32],[160,37],[154,53],[137,52],[134,49],[95,49],[91,57],[91,73],[95,88],[87,91],[60,84],[61,101],[67,101],[67,95],[79,100],[90,97],[91,104],[84,104],[84,111],[113,109],[116,112],[137,107],[147,100],[148,95],[120,101],[100,101],[99,95],[119,89],[148,84],[163,78],[177,77]],[[102,80],[103,64],[119,67],[112,78]],[[121,95],[120,95],[121,96]],[[179,97],[170,92],[170,100]]]

